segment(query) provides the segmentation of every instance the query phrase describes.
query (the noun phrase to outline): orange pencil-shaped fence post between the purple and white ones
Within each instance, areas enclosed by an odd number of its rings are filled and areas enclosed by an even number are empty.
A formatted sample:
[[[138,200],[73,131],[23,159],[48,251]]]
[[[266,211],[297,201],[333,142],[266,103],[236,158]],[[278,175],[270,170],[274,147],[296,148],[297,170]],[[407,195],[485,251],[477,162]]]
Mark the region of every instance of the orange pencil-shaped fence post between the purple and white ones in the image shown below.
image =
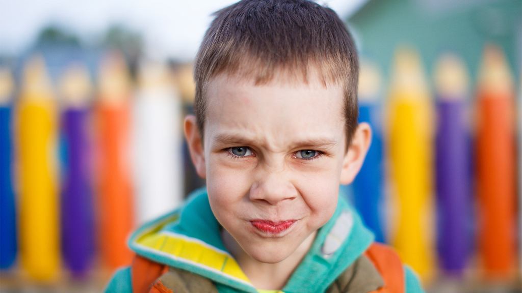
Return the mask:
[[[127,160],[128,77],[120,55],[105,60],[99,80],[100,100],[96,107],[99,239],[103,262],[114,269],[131,262],[127,238],[134,227],[131,170]]]

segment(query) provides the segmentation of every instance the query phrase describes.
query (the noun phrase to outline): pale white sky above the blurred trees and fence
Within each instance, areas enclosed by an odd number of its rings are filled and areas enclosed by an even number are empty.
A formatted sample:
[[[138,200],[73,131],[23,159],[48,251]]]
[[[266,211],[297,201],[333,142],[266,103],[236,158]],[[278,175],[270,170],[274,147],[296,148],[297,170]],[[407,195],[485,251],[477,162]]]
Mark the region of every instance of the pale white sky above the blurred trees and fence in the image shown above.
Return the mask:
[[[0,0],[0,54],[25,49],[42,27],[63,25],[92,39],[114,23],[141,32],[151,58],[192,59],[211,14],[236,0]],[[366,0],[317,1],[345,18]]]

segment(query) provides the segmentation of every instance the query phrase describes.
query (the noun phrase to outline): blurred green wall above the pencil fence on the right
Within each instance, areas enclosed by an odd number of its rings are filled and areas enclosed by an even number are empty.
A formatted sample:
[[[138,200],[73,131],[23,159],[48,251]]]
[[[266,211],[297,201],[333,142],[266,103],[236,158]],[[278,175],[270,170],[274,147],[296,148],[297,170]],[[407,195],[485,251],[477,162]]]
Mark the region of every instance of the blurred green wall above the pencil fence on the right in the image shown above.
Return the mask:
[[[370,0],[348,19],[361,56],[382,66],[385,80],[397,45],[419,50],[431,76],[438,56],[460,55],[471,80],[476,80],[484,44],[495,43],[506,53],[520,81],[522,67],[522,1]],[[435,5],[434,8],[431,5]]]

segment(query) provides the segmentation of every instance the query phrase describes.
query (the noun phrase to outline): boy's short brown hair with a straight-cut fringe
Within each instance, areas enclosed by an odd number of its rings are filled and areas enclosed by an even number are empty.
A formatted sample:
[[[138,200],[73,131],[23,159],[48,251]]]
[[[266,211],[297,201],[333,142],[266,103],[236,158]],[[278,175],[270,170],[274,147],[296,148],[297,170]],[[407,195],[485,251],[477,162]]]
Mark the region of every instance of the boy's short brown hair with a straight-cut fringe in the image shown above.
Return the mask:
[[[203,136],[206,86],[219,74],[270,82],[283,72],[307,82],[319,72],[323,84],[344,88],[347,146],[357,127],[357,50],[345,24],[330,8],[307,0],[242,0],[215,13],[194,67],[194,112]]]

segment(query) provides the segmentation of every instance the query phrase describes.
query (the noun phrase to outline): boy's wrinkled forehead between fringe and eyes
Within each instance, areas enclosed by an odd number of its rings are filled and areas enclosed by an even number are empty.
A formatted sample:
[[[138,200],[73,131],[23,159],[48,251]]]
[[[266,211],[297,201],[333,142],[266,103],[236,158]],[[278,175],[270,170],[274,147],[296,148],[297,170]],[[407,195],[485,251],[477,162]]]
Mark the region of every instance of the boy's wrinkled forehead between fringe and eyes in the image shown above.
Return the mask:
[[[318,78],[256,85],[220,75],[207,88],[205,137],[238,135],[285,147],[296,140],[344,139],[343,89]]]

